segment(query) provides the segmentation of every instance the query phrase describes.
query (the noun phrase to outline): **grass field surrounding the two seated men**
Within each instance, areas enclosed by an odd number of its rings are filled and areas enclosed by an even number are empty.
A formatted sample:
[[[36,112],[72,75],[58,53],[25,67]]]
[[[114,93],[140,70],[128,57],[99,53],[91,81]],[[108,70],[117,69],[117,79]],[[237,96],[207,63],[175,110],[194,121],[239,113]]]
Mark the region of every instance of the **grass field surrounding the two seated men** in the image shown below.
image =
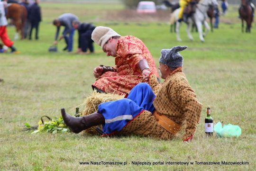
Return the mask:
[[[152,171],[253,171],[256,170],[256,27],[241,33],[237,8],[221,17],[219,29],[201,43],[197,33],[190,42],[182,28],[183,42],[169,33],[167,19],[154,16],[143,23],[134,18],[121,19],[122,4],[41,3],[43,22],[38,41],[18,40],[20,54],[0,54],[0,170],[1,171],[83,171],[83,170],[152,170]],[[110,10],[112,9],[113,10]],[[91,93],[92,70],[99,64],[113,65],[95,45],[89,55],[62,52],[48,53],[55,27],[51,21],[64,12],[72,12],[81,21],[112,27],[121,35],[142,39],[158,66],[160,50],[187,45],[181,54],[185,72],[199,101],[203,104],[201,121],[191,144],[159,141],[137,136],[109,137],[75,134],[30,134],[22,126],[37,125],[42,115],[59,117],[60,108],[73,114],[75,107]],[[110,16],[107,16],[107,15]],[[119,16],[112,14],[119,14]],[[168,15],[168,12],[166,12]],[[141,17],[141,16],[140,16]],[[141,18],[139,19],[142,21]],[[132,22],[130,22],[132,21]],[[117,24],[119,22],[119,24]],[[8,27],[9,37],[14,28]],[[75,40],[77,35],[75,35]],[[75,43],[74,47],[76,48]],[[206,138],[204,118],[211,106],[214,122],[242,128],[239,138]],[[80,165],[79,162],[127,162],[127,165]],[[151,165],[136,165],[152,162]],[[247,165],[205,165],[198,162],[249,162]],[[193,162],[168,165],[153,162]]]

